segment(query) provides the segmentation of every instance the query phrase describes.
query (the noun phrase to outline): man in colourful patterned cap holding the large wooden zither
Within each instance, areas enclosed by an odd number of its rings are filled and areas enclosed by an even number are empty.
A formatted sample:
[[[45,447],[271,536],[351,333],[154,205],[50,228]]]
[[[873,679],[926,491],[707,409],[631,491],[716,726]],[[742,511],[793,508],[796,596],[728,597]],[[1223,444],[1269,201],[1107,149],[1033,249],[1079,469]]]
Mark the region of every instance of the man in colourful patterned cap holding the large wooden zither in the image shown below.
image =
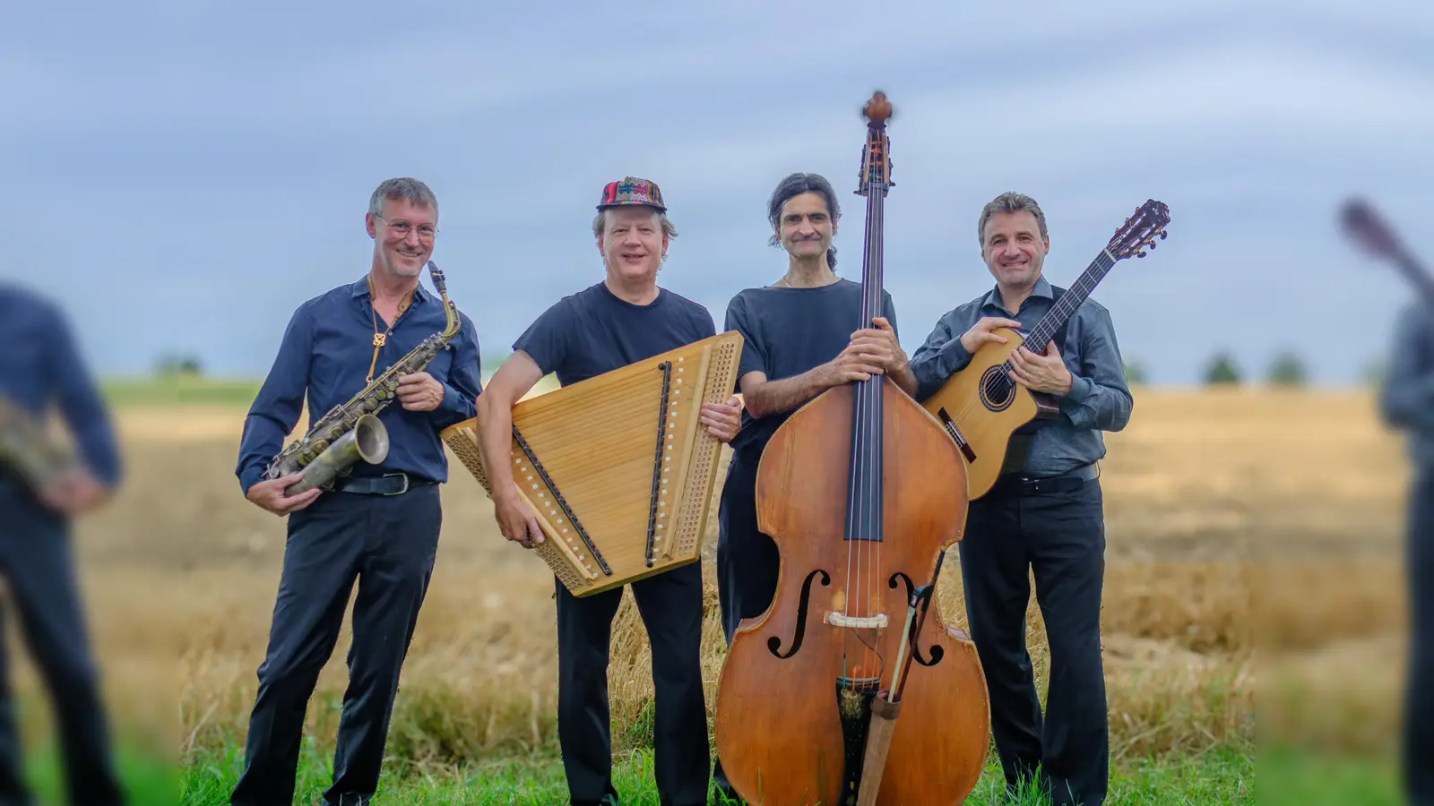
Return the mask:
[[[513,343],[513,354],[478,399],[479,445],[503,536],[523,548],[543,541],[513,483],[512,407],[548,373],[562,386],[612,371],[717,334],[711,314],[657,285],[677,229],[654,182],[609,182],[592,222],[607,277],[558,300]],[[703,403],[701,422],[723,442],[740,423],[736,396]],[[576,598],[554,578],[558,598],[558,740],[574,806],[615,805],[608,716],[608,650],[622,588]],[[707,707],[703,701],[701,561],[632,582],[652,644],[657,789],[664,806],[707,803]]]

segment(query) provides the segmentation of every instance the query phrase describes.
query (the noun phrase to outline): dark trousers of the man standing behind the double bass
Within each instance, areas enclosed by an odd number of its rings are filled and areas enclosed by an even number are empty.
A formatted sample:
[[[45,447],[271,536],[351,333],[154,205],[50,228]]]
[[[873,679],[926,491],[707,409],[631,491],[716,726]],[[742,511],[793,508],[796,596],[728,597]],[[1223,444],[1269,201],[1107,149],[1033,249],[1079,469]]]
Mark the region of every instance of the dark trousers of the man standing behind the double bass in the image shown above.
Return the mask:
[[[741,620],[759,618],[771,607],[780,566],[777,544],[757,528],[757,466],[731,462],[717,505],[717,602],[728,645]],[[737,799],[721,759],[713,780],[724,796]]]

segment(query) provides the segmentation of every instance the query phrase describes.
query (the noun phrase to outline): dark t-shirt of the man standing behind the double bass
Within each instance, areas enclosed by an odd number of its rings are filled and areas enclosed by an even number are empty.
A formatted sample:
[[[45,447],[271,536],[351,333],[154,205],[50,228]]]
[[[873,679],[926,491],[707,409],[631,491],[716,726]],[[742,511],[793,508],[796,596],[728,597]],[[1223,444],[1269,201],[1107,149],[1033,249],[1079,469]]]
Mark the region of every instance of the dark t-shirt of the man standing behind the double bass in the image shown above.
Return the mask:
[[[882,310],[896,330],[896,308],[886,291]],[[825,364],[842,354],[852,333],[872,324],[862,321],[862,284],[837,280],[817,288],[746,288],[727,304],[726,327],[744,338],[737,367],[740,390],[741,376],[750,371],[782,380]],[[790,414],[753,419],[743,410],[741,430],[731,442],[733,462],[756,465],[767,440]]]

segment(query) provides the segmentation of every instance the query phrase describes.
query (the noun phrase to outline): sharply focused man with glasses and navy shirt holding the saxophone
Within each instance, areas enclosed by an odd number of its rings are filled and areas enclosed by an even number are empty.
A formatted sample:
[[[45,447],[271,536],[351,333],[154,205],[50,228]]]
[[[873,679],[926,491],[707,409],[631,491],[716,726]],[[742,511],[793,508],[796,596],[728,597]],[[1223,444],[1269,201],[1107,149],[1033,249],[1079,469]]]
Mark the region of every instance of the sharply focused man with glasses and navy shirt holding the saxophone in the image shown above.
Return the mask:
[[[423,182],[400,178],[379,185],[366,217],[374,241],[369,274],[298,307],[245,419],[235,475],[251,502],[288,516],[288,541],[268,650],[258,667],[244,773],[231,803],[293,802],[304,713],[356,581],[350,683],[324,803],[367,803],[377,789],[399,671],[437,551],[437,485],[447,480],[439,432],[472,417],[480,393],[472,320],[453,314],[419,283],[433,252],[437,215],[437,199]],[[426,361],[423,346],[435,334],[447,338],[447,349]],[[394,369],[397,406],[380,413],[386,456],[354,462],[327,488],[297,495],[285,490],[300,473],[264,478],[297,425],[305,394],[315,423],[354,402],[396,363],[403,364]],[[360,403],[354,402],[356,412]]]

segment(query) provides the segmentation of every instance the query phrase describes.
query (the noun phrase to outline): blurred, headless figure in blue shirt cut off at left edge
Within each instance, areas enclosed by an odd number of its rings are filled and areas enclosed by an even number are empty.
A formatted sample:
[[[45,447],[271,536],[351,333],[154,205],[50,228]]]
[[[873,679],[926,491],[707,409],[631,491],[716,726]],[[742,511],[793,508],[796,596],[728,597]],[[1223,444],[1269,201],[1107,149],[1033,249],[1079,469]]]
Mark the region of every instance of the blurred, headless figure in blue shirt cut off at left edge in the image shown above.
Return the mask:
[[[106,503],[120,480],[113,425],[69,321],[47,300],[0,283],[0,571],[4,604],[53,704],[69,803],[123,803],[99,673],[70,542],[72,519]],[[46,414],[57,406],[73,445],[54,443]],[[60,463],[49,463],[50,456]],[[42,460],[44,462],[43,470]],[[3,635],[0,635],[3,637]],[[0,803],[32,803],[0,643]]]

